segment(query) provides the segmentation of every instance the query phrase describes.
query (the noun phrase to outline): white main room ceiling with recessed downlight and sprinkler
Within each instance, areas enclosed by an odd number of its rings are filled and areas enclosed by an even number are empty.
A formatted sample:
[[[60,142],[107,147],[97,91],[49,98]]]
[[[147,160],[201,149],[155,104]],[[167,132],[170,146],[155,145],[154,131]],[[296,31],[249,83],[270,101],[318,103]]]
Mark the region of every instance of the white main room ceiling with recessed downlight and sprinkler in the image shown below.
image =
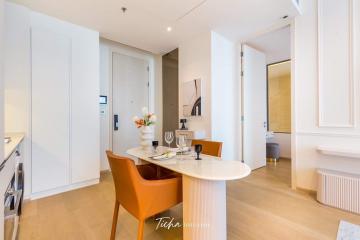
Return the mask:
[[[238,41],[297,14],[292,0],[11,0],[153,53],[214,30]],[[124,14],[121,8],[127,7]],[[171,26],[172,32],[166,28]]]

